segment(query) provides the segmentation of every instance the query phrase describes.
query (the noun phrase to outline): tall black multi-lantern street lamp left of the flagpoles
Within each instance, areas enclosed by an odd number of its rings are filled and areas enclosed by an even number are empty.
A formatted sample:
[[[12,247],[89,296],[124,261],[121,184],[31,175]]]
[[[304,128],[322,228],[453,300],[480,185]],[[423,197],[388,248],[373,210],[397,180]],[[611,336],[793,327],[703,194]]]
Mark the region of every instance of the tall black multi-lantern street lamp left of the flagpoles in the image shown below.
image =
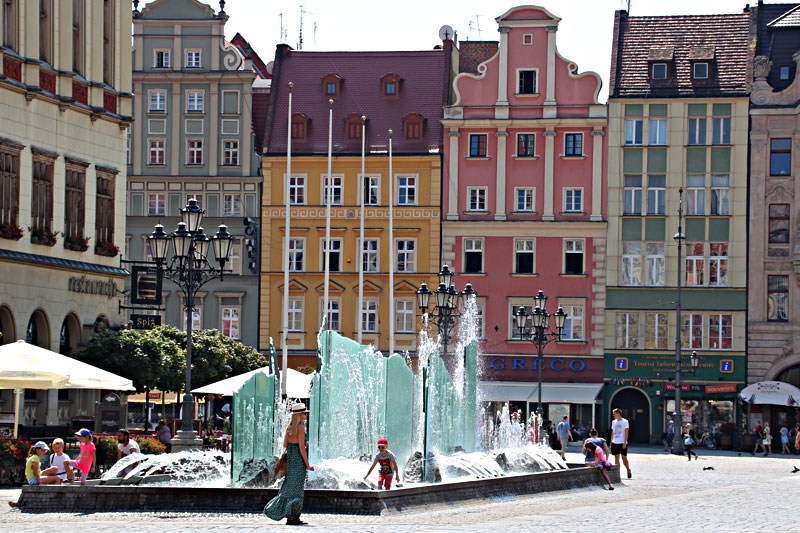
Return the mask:
[[[192,198],[181,209],[181,222],[172,235],[164,232],[164,226],[156,224],[155,230],[147,238],[150,253],[160,274],[175,282],[184,296],[186,310],[186,384],[183,394],[183,415],[181,429],[173,439],[173,448],[191,448],[202,444],[200,436],[192,427],[194,418],[194,398],[192,397],[192,311],[197,291],[211,281],[222,276],[225,263],[231,254],[233,237],[224,224],[217,233],[209,237],[200,226],[205,211]],[[167,260],[169,244],[172,243],[173,255]],[[214,248],[214,256],[219,266],[209,261],[209,249]]]

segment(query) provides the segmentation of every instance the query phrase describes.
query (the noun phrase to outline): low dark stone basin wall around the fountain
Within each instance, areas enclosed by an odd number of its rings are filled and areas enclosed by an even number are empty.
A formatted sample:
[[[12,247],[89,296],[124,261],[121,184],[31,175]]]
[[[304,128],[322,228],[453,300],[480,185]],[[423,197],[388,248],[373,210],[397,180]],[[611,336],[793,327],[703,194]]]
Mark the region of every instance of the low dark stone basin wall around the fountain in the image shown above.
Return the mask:
[[[430,485],[377,490],[315,490],[305,493],[304,513],[370,514],[404,511],[469,500],[509,498],[541,492],[600,487],[596,468],[582,464],[567,470],[469,479]],[[620,482],[619,468],[608,472]],[[203,512],[261,513],[277,489],[175,487],[148,485],[87,485],[22,487],[17,508],[28,513],[74,512]]]

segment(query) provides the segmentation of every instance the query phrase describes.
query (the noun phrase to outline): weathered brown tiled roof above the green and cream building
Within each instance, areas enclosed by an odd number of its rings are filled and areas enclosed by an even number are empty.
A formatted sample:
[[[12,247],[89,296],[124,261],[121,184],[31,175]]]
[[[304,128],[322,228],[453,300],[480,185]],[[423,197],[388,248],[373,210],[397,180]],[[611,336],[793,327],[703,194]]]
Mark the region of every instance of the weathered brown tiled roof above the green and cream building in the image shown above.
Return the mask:
[[[609,97],[746,96],[752,69],[749,20],[749,11],[656,17],[617,11]],[[695,61],[710,63],[707,80],[692,78]],[[666,80],[650,79],[653,62],[667,62]]]

